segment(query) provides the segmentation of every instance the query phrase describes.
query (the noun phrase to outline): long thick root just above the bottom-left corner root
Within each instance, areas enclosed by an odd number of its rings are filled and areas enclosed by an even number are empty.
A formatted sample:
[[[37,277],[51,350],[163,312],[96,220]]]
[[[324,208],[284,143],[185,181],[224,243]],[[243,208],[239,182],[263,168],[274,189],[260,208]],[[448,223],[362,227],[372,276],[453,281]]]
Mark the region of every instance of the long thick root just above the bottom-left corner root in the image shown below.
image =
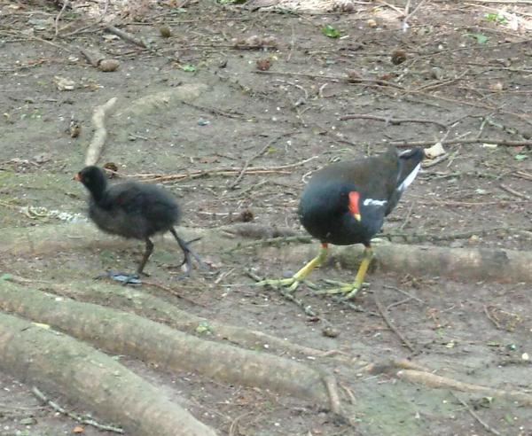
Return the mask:
[[[0,308],[66,331],[115,354],[152,362],[162,370],[192,371],[223,383],[256,386],[313,401],[338,412],[325,373],[272,354],[198,339],[167,325],[90,303],[4,282]]]

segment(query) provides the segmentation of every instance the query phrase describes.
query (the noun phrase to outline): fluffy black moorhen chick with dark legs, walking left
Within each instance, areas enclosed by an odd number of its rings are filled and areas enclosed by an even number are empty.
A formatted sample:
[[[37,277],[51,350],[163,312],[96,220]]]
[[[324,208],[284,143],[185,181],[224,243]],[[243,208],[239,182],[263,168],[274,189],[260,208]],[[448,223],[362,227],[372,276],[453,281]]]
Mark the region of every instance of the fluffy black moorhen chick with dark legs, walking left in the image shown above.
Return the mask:
[[[137,275],[110,273],[109,275],[127,283],[139,283],[146,262],[153,252],[150,237],[169,231],[176,238],[184,253],[186,274],[192,269],[191,256],[202,265],[200,257],[193,253],[188,243],[179,237],[174,226],[179,221],[179,206],[167,191],[145,183],[125,182],[109,185],[106,174],[99,167],[84,167],[74,179],[83,183],[90,191],[89,217],[100,230],[121,237],[132,237],[145,241],[145,253],[138,264]]]

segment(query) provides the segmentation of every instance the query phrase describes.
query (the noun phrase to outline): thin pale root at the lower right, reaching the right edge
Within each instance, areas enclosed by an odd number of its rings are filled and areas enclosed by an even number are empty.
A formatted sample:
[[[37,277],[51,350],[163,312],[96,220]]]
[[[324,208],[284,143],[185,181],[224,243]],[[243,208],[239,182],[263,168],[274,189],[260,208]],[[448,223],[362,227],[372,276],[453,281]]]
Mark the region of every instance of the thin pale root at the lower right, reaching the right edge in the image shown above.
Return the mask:
[[[518,401],[524,406],[532,406],[532,395],[529,393],[505,391],[503,389],[496,389],[494,387],[483,385],[472,385],[453,378],[436,376],[430,372],[419,370],[400,370],[397,372],[396,376],[403,380],[426,385],[427,387],[434,387],[435,389],[453,389],[455,391],[480,393],[484,396],[504,398],[510,401]]]

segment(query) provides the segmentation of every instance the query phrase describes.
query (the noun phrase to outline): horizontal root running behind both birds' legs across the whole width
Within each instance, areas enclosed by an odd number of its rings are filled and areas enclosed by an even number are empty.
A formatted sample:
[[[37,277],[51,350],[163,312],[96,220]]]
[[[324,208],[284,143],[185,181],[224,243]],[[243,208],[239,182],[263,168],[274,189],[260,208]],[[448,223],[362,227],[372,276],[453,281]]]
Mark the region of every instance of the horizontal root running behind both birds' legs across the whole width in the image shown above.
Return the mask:
[[[202,237],[203,251],[221,253],[235,237],[220,230],[179,228],[185,238]],[[75,234],[75,238],[72,236]],[[83,236],[83,237],[78,237]],[[4,229],[0,254],[11,255],[50,253],[59,250],[86,249],[88,246],[118,248],[131,246],[124,239],[109,237],[88,224],[43,226],[25,229]],[[168,239],[170,240],[170,239]],[[208,241],[206,243],[205,241]],[[174,242],[172,241],[172,244]],[[173,246],[173,245],[172,245]],[[314,245],[254,246],[254,254],[263,259],[302,263],[316,254]],[[362,245],[334,247],[328,264],[336,261],[352,270],[358,269]],[[202,251],[200,248],[198,251]],[[506,283],[532,283],[531,252],[488,248],[447,248],[429,245],[402,245],[382,242],[374,244],[374,263],[378,268],[401,274],[442,276],[462,281],[486,280]]]

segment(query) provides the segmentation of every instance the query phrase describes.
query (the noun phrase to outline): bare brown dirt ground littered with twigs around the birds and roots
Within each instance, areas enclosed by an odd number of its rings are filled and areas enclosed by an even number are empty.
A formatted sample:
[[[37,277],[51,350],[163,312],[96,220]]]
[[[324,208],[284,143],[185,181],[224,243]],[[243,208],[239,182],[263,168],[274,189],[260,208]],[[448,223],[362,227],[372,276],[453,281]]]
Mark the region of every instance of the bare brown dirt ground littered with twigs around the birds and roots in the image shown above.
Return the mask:
[[[429,0],[421,2],[403,32],[403,1],[313,13],[185,3],[184,8],[170,1],[146,4],[115,17],[116,27],[143,38],[143,48],[104,31],[97,18],[79,10],[0,1],[2,228],[75,226],[67,221],[83,219],[77,214],[83,216],[87,194],[71,179],[83,166],[93,109],[117,97],[100,163],[113,162],[122,177],[184,175],[165,182],[184,208],[184,226],[217,228],[249,219],[301,230],[295,214],[299,193],[317,167],[379,152],[385,144],[430,146],[444,140],[447,154],[424,168],[384,234],[395,242],[529,250],[532,6],[508,2],[503,11],[489,2]],[[324,35],[326,25],[340,37]],[[162,37],[160,27],[168,27],[170,37]],[[276,48],[234,47],[235,38],[242,42],[253,35],[273,37]],[[120,66],[102,72],[80,49],[99,51]],[[257,61],[267,69],[260,70]],[[59,90],[61,78],[72,81],[73,90]],[[131,110],[139,98],[182,84],[206,88],[189,102]],[[373,119],[340,121],[347,114]],[[81,125],[77,137],[69,133],[71,120]],[[262,170],[244,174],[238,169],[243,167]],[[529,284],[458,283],[423,271],[370,274],[369,287],[356,299],[364,312],[299,291],[319,314],[317,321],[278,292],[253,287],[244,272],[285,276],[299,269],[299,262],[264,259],[260,245],[231,253],[209,251],[208,241],[200,247],[214,277],[176,282],[176,252],[157,245],[148,264],[152,280],[186,300],[141,289],[194,314],[301,345],[368,361],[410,356],[450,378],[532,391]],[[139,244],[135,250],[4,256],[0,272],[61,283],[103,269],[130,269],[140,253]],[[320,284],[352,275],[324,268],[312,279]],[[376,299],[416,355],[387,327]],[[324,319],[337,337],[323,335]],[[355,396],[353,428],[309,402],[194,374],[161,374],[143,362],[120,359],[186,399],[183,406],[220,434],[532,434],[530,409],[514,401],[455,396],[387,375],[338,375]],[[325,366],[334,370],[333,363]],[[42,407],[31,385],[0,373],[0,387],[0,434],[69,434],[79,425]],[[60,393],[50,396],[66,409],[90,413]],[[107,432],[85,426],[84,434]]]

